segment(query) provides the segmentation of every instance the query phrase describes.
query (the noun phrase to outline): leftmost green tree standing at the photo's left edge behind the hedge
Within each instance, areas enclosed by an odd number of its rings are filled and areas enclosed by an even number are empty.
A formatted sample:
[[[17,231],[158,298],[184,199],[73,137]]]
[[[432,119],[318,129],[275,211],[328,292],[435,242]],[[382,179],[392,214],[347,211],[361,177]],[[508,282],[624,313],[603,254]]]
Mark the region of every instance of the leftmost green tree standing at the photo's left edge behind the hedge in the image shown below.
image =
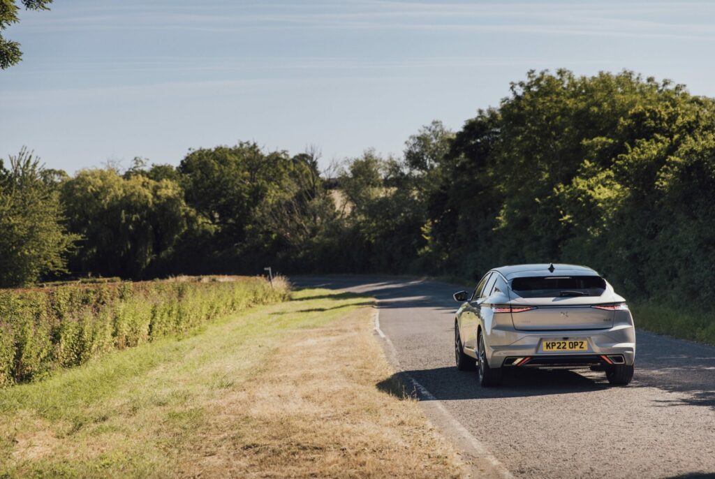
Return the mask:
[[[21,149],[0,161],[0,287],[30,285],[66,271],[76,234],[62,225],[63,211],[49,170]]]

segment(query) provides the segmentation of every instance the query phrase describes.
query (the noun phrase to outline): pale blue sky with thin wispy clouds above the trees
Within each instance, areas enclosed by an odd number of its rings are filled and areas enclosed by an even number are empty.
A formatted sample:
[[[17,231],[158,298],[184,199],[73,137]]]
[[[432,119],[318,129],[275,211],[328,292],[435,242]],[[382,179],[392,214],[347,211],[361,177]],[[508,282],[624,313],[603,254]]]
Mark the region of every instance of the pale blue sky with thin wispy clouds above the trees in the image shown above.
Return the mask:
[[[631,69],[715,97],[715,2],[55,0],[6,30],[0,157],[74,172],[251,140],[323,164],[459,129],[529,69]]]

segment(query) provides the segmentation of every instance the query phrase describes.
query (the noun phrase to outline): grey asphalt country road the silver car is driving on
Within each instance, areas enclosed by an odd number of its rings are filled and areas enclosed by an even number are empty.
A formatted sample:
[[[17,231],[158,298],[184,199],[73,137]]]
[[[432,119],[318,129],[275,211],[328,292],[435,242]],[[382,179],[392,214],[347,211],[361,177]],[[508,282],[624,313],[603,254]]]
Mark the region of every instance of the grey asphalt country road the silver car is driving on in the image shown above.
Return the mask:
[[[454,286],[395,277],[292,281],[375,297],[400,368],[430,392],[423,404],[439,401],[516,477],[715,477],[715,347],[638,330],[628,387],[611,387],[603,372],[519,371],[483,389],[475,373],[454,367]]]

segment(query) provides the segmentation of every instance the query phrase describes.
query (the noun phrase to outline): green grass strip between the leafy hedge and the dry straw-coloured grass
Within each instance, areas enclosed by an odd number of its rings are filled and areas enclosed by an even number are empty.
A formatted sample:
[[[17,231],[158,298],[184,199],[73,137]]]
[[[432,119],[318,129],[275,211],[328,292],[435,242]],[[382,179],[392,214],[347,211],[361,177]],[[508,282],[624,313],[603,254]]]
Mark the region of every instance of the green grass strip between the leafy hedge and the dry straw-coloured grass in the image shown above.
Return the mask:
[[[371,300],[323,290],[254,307],[0,389],[0,477],[175,475],[207,405],[260,374],[277,341]]]

